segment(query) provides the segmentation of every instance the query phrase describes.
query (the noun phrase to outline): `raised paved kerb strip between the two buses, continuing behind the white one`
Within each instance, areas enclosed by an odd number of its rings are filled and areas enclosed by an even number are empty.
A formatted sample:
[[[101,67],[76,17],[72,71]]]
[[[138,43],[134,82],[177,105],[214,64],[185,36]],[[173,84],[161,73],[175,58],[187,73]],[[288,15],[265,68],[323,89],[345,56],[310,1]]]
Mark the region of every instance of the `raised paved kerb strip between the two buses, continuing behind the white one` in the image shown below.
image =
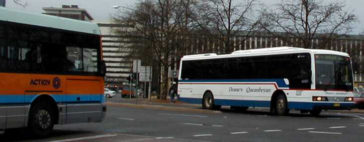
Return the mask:
[[[107,105],[113,106],[123,106],[123,107],[133,107],[133,108],[149,108],[149,109],[163,109],[163,110],[175,110],[175,111],[192,111],[192,112],[202,112],[202,113],[222,113],[216,110],[203,109],[201,104],[191,104],[184,103],[182,101],[176,100],[175,103],[170,103],[169,99],[151,99],[148,98],[120,98],[116,96],[114,98],[106,99]],[[263,108],[269,109],[269,108]],[[354,108],[352,110],[329,110],[332,112],[350,112],[350,113],[364,113],[364,109]]]

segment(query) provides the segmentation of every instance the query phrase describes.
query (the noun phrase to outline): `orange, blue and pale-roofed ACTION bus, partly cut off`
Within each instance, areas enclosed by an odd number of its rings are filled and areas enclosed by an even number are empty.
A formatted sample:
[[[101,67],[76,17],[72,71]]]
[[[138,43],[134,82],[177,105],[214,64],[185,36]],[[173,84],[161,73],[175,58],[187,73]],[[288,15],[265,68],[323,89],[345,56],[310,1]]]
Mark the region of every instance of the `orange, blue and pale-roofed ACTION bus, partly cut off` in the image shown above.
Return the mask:
[[[100,35],[91,22],[0,7],[0,131],[101,122]]]

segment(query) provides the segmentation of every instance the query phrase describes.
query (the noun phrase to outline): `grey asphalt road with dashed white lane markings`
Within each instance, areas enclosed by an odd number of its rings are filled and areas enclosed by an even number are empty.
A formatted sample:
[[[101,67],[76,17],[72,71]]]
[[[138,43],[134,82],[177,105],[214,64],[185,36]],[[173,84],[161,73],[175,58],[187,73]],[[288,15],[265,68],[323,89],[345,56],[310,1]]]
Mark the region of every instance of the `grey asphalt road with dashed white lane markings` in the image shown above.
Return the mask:
[[[0,134],[0,141],[23,142],[363,142],[364,114],[324,111],[320,117],[267,110],[223,113],[108,106],[101,123],[56,126],[50,138]]]

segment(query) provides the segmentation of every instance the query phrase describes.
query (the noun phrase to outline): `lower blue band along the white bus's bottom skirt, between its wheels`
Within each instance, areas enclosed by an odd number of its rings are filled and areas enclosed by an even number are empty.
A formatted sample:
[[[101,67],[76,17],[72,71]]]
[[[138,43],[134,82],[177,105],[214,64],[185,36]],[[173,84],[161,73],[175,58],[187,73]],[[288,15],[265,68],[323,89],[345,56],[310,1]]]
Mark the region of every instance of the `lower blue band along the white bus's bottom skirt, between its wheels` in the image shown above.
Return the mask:
[[[202,98],[187,98],[180,97],[179,100],[188,103],[202,104]],[[340,103],[340,107],[334,106],[335,103],[325,102],[288,102],[289,109],[306,109],[312,110],[314,108],[321,109],[349,109],[353,107],[354,103]],[[229,106],[249,106],[249,107],[271,107],[271,101],[263,100],[229,100],[229,99],[215,99],[215,105],[229,105]]]

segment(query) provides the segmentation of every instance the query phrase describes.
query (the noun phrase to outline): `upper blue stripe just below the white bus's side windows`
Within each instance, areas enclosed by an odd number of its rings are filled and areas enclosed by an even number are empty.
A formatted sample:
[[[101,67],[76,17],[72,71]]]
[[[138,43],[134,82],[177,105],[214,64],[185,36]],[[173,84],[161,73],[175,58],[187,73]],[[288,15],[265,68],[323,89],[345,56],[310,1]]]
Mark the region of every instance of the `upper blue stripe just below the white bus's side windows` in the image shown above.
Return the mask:
[[[283,79],[203,79],[203,80],[179,80],[180,83],[187,82],[275,82],[279,88],[288,88]]]

